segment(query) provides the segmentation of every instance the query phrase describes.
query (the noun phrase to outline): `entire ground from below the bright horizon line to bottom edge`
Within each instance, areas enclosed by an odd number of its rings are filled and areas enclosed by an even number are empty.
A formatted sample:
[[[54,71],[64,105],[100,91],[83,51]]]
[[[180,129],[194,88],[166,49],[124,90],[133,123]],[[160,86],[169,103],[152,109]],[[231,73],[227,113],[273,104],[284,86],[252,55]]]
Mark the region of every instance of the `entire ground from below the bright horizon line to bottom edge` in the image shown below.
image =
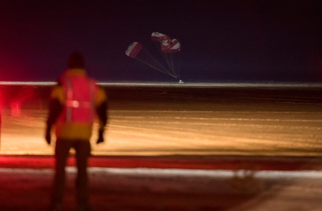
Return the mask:
[[[49,202],[48,92],[38,89],[1,90],[14,97],[2,109],[0,210],[43,210]],[[319,86],[106,89],[106,142],[91,140],[93,210],[322,207]],[[17,110],[11,102],[22,96],[32,97]],[[25,154],[38,156],[17,156]],[[74,171],[68,168],[66,211],[75,206]]]

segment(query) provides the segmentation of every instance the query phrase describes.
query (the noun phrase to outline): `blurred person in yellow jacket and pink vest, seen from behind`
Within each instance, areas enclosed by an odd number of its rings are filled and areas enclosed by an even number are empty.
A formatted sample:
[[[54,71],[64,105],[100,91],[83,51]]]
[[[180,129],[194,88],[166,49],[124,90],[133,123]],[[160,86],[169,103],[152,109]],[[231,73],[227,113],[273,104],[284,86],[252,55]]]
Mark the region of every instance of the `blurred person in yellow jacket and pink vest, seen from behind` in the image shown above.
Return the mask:
[[[76,200],[79,211],[88,207],[87,161],[90,156],[90,137],[95,113],[99,119],[99,138],[107,123],[107,96],[94,79],[87,76],[81,53],[71,53],[67,70],[52,89],[47,119],[46,141],[51,144],[51,129],[55,126],[55,176],[53,181],[51,211],[62,206],[65,185],[65,166],[71,148],[75,149],[77,161]]]

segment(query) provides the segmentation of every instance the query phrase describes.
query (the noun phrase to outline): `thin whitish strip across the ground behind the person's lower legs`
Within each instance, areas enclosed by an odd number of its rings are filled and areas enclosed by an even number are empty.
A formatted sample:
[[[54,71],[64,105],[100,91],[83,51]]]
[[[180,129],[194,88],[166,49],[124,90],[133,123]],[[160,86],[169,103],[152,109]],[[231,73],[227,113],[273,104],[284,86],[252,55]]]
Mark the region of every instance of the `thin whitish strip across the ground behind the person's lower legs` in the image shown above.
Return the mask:
[[[67,173],[77,173],[76,167],[66,167]],[[94,175],[134,175],[134,176],[178,176],[178,177],[211,177],[232,178],[245,177],[252,173],[254,178],[262,179],[286,179],[307,178],[321,179],[322,171],[250,171],[250,170],[203,170],[203,169],[162,169],[162,168],[101,168],[88,167],[89,174]],[[31,174],[53,174],[54,169],[32,169],[32,168],[0,168],[0,173],[31,173]]]

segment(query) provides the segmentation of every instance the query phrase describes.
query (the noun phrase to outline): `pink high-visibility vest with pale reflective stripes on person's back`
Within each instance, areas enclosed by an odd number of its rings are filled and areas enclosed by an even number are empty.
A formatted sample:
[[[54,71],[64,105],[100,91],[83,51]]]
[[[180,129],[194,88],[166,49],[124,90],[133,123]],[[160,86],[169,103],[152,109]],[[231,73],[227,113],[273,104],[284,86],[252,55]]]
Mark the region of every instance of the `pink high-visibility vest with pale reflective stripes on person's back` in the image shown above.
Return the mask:
[[[95,80],[76,75],[62,77],[61,82],[66,102],[57,121],[91,125],[95,115],[95,93],[98,89]]]

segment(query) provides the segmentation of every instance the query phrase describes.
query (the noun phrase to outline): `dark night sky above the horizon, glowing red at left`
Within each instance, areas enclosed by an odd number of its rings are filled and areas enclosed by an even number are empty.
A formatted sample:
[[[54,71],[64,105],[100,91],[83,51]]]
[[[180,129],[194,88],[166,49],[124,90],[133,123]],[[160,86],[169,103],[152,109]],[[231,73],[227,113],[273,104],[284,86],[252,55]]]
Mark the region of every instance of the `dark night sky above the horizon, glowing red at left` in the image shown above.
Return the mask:
[[[172,76],[125,54],[153,32],[181,43],[183,81],[322,81],[321,1],[1,1],[0,81],[55,81],[84,54],[99,81]]]

